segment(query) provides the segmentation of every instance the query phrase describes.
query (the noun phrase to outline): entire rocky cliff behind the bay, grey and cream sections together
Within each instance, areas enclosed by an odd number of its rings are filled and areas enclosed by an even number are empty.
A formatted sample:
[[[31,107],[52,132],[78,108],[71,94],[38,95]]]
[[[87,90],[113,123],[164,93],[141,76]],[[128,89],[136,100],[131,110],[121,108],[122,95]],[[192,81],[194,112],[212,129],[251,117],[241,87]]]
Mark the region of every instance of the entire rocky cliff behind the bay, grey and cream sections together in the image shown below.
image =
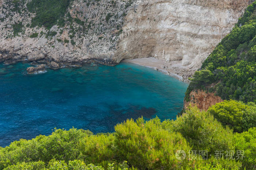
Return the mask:
[[[123,59],[154,57],[165,61],[167,70],[187,79],[229,33],[250,2],[74,0],[68,13],[82,22],[64,27],[55,25],[49,32],[56,34],[47,37],[48,30],[44,27],[26,27],[33,13],[15,12],[14,4],[0,0],[0,51],[14,54],[20,60],[40,51],[45,57],[43,62],[54,61],[60,67],[61,63],[91,59],[116,64]],[[20,4],[20,8],[26,9],[26,3]],[[13,25],[20,22],[22,30],[14,35]],[[33,33],[38,33],[38,37],[31,36]]]

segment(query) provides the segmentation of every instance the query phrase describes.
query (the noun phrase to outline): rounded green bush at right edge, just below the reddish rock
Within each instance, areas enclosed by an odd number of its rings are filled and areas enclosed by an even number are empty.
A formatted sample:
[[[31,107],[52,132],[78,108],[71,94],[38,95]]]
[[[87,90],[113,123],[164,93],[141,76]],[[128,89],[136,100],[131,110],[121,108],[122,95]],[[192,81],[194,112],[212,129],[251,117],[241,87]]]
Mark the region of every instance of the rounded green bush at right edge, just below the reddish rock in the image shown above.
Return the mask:
[[[219,120],[223,126],[228,125],[233,128],[234,132],[241,133],[256,126],[255,103],[246,105],[241,101],[225,100],[210,107],[207,112]]]

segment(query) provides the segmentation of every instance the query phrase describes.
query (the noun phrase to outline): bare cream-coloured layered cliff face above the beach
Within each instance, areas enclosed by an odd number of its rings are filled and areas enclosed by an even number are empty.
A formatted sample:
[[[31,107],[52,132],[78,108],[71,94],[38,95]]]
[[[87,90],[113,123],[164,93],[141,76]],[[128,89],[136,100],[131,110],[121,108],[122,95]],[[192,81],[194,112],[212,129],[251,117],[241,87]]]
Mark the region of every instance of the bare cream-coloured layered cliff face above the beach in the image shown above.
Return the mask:
[[[123,58],[155,57],[185,78],[237,23],[250,0],[139,0],[117,46]],[[183,71],[181,71],[183,70]]]

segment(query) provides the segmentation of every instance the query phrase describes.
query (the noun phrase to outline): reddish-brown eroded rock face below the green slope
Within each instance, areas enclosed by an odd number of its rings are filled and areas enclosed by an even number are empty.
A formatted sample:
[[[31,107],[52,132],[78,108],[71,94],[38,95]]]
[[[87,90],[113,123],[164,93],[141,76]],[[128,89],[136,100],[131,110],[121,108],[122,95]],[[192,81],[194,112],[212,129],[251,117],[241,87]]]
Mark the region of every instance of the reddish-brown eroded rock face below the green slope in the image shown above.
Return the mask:
[[[184,108],[187,109],[189,104],[197,106],[200,110],[208,110],[209,107],[216,103],[223,102],[221,97],[215,96],[214,93],[206,93],[203,90],[191,91],[190,101],[184,103]]]

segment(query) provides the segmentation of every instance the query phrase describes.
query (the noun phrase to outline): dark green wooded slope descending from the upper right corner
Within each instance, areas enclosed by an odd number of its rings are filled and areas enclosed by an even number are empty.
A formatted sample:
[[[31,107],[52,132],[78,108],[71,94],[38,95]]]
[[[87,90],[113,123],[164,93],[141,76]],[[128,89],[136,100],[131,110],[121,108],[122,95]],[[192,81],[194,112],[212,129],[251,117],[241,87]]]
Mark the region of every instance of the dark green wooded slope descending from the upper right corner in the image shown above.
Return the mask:
[[[193,89],[215,92],[223,100],[256,102],[256,2],[195,73],[187,102]]]

